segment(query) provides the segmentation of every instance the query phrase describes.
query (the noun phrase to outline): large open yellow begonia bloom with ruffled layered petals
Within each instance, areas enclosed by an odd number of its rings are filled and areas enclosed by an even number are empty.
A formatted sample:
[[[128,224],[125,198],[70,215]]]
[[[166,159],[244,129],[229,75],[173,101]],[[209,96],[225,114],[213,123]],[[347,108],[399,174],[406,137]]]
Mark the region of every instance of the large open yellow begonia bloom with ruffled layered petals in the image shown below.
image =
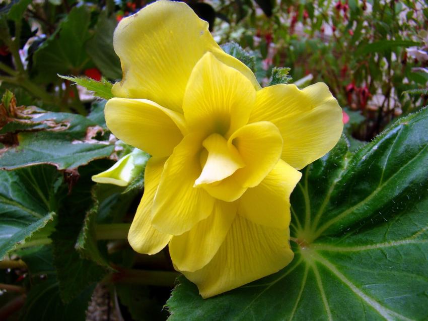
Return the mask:
[[[290,194],[298,169],[342,132],[327,86],[260,88],[184,3],[158,1],[114,33],[123,79],[105,108],[116,137],[152,155],[128,234],[210,297],[293,259]]]

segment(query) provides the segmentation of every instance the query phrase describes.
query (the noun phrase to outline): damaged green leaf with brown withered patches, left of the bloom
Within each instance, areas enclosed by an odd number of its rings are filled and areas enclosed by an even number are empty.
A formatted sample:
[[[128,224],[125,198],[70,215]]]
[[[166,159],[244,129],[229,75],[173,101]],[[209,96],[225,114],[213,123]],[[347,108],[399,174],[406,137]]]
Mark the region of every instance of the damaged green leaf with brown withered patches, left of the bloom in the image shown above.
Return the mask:
[[[8,170],[40,163],[73,169],[114,150],[108,141],[98,140],[104,130],[94,121],[34,107],[21,110],[19,118],[0,129],[0,135],[8,133],[10,143],[0,151],[0,168]]]

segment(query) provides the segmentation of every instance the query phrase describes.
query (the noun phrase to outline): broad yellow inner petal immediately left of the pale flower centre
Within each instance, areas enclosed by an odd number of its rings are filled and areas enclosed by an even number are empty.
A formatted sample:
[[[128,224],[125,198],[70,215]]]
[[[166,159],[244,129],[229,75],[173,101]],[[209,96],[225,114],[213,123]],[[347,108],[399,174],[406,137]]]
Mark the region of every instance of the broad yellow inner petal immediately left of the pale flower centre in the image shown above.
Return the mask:
[[[211,214],[214,199],[193,187],[200,174],[201,136],[187,135],[165,163],[153,206],[152,224],[164,233],[180,235]]]

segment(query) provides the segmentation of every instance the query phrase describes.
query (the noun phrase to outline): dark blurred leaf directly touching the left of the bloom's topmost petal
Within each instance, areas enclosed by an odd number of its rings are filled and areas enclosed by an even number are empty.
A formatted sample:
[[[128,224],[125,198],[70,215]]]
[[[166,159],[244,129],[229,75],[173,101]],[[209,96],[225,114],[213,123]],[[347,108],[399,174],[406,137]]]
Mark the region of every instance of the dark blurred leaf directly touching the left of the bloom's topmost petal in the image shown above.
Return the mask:
[[[115,16],[108,18],[107,11],[104,10],[95,26],[94,37],[86,43],[87,52],[97,68],[105,77],[111,79],[122,78],[120,59],[113,49],[113,32],[116,26]]]

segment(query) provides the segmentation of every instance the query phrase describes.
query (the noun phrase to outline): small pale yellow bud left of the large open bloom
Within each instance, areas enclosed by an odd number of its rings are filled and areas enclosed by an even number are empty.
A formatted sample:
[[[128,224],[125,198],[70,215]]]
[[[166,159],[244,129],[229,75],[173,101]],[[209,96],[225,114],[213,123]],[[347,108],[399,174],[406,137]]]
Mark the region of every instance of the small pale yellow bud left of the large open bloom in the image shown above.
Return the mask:
[[[92,176],[92,180],[97,183],[114,184],[127,186],[137,175],[142,174],[148,155],[134,148],[129,153],[119,159],[109,169]]]

